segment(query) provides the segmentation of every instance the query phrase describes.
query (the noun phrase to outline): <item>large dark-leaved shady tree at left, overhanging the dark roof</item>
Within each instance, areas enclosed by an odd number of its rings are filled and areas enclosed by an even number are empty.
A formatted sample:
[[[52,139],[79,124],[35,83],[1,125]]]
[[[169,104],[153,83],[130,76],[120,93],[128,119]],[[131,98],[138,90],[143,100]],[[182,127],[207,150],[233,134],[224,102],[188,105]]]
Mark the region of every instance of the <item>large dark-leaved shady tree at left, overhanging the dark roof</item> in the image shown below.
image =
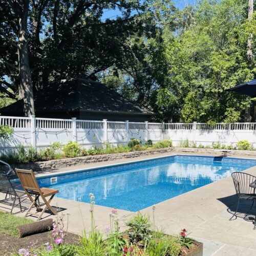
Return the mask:
[[[143,31],[154,33],[156,24],[147,22],[153,19],[153,3],[0,0],[1,92],[24,98],[25,113],[31,115],[33,90],[49,80],[97,79],[100,71],[132,65],[136,56],[127,38]],[[113,9],[119,10],[117,17],[102,19]]]

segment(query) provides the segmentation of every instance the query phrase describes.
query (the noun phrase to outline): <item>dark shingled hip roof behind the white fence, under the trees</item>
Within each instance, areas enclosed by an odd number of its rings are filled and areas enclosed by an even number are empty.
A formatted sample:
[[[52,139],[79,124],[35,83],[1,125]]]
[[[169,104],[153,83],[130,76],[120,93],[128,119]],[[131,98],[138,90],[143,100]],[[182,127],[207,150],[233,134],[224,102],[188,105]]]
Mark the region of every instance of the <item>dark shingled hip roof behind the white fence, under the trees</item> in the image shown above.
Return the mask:
[[[56,80],[34,94],[35,111],[101,111],[134,114],[154,114],[135,102],[122,97],[104,84],[86,79]],[[23,110],[23,100],[0,109],[7,112]]]

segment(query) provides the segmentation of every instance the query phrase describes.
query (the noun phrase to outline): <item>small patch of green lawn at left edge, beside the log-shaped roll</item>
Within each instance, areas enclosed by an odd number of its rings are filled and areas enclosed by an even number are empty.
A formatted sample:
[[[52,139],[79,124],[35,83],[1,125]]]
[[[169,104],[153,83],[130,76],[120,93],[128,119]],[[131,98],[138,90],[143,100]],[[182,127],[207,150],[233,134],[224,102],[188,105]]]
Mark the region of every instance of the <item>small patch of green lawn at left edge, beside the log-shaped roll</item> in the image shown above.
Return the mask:
[[[8,212],[0,211],[0,233],[9,234],[9,236],[18,238],[19,231],[17,226],[32,223],[32,220],[15,215],[8,214]]]

